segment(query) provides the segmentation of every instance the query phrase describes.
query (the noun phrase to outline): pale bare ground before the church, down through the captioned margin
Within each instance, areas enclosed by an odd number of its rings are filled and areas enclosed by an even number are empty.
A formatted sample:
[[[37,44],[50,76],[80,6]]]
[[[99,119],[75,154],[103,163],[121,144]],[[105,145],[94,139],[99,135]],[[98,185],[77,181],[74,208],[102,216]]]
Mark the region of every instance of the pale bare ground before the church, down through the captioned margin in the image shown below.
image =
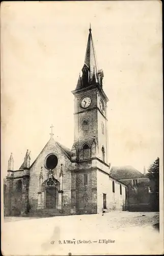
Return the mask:
[[[159,212],[112,211],[38,219],[8,217],[2,224],[3,254],[161,254],[162,232],[154,227],[158,223]],[[115,243],[102,242],[110,240]]]

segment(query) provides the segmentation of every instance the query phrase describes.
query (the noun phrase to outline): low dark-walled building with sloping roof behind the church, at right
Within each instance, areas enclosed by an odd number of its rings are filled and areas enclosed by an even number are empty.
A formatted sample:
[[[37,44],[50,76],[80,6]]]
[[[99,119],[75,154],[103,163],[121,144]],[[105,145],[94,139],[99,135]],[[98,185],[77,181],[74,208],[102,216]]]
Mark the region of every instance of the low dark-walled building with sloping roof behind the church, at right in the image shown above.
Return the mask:
[[[111,167],[110,175],[128,185],[128,210],[145,211],[151,208],[149,178],[132,166]]]

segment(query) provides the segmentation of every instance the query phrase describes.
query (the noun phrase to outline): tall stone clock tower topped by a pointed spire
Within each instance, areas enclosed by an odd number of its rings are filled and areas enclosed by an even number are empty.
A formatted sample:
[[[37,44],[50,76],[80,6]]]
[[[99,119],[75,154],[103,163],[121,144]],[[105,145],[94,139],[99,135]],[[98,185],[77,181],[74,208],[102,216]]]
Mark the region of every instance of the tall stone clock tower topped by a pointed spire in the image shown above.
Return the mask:
[[[96,213],[97,168],[108,174],[107,101],[103,71],[98,70],[91,27],[87,50],[74,91],[72,214]]]

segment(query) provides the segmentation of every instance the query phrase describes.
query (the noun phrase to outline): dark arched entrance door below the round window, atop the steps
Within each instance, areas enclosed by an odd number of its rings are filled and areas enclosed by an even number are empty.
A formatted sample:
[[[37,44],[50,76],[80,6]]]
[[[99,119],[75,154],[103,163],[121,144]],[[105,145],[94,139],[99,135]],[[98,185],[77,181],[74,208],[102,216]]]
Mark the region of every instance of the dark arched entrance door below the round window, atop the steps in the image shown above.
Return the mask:
[[[57,206],[57,189],[48,187],[46,189],[46,208],[54,209]]]

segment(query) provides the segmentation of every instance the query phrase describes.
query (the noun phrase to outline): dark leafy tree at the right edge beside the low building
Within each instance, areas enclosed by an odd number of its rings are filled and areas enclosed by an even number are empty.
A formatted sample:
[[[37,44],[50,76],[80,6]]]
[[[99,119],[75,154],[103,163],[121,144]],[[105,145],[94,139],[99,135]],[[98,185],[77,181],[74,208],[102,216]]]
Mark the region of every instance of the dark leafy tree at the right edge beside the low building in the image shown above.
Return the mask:
[[[159,157],[148,168],[147,176],[150,179],[150,190],[153,193],[159,192]]]

